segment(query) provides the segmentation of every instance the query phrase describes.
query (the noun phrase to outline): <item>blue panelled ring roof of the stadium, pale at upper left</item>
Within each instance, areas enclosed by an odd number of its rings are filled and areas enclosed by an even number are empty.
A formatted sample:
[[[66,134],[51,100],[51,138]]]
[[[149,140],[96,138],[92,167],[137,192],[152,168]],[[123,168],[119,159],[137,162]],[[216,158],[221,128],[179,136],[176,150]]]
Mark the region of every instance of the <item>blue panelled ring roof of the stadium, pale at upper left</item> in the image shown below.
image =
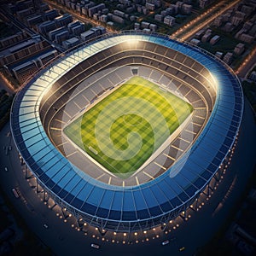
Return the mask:
[[[97,181],[63,157],[44,131],[39,105],[45,90],[74,65],[102,49],[128,40],[160,44],[189,55],[212,73],[218,82],[218,93],[207,125],[187,154],[148,183],[120,187]],[[16,95],[11,127],[27,166],[61,201],[97,218],[136,222],[172,212],[205,188],[235,141],[242,112],[243,96],[238,79],[212,55],[158,34],[123,32],[85,45],[38,73]]]

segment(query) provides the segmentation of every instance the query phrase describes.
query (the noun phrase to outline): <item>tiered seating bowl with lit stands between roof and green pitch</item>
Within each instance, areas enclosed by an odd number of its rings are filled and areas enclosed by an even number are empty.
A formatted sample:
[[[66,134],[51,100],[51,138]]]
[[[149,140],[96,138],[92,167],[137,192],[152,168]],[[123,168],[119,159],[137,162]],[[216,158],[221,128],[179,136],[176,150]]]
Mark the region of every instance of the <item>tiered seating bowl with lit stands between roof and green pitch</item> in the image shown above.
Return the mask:
[[[211,114],[216,98],[216,81],[197,61],[158,44],[125,41],[100,51],[98,55],[101,58],[96,54],[79,63],[51,86],[50,93],[44,95],[40,104],[44,129],[61,153],[91,177],[119,186],[146,183],[165,172],[189,150]],[[63,136],[63,127],[85,107],[96,100],[101,101],[104,92],[111,90],[111,93],[113,88],[134,77],[134,73],[183,98],[194,111],[183,125],[180,122],[172,139],[163,143],[161,152],[157,150],[158,154],[150,157],[150,162],[143,165],[138,170],[140,172],[122,178],[84,157],[84,152]],[[130,108],[134,108],[132,104]],[[164,121],[163,126],[165,124]]]

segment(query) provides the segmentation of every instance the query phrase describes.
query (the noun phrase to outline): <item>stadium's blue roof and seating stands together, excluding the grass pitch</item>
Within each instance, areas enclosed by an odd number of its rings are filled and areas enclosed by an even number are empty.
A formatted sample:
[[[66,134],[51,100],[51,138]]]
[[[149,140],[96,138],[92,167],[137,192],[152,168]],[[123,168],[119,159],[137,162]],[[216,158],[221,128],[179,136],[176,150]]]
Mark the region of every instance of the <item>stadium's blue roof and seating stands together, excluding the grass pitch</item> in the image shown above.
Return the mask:
[[[180,95],[194,113],[141,172],[121,179],[62,131],[102,91],[134,75]],[[241,84],[222,61],[167,36],[132,31],[84,44],[40,71],[15,96],[11,131],[45,200],[100,229],[131,232],[186,214],[230,161],[242,113]]]

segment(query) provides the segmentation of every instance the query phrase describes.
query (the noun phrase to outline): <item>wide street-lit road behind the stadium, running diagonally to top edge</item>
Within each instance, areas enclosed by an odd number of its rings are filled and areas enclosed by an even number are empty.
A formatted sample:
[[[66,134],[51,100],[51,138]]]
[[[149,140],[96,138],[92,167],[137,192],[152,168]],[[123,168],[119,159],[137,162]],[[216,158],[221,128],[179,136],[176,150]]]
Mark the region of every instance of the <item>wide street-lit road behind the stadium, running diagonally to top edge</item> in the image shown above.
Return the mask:
[[[202,28],[206,28],[207,25],[212,22],[212,20],[216,19],[219,15],[222,15],[225,11],[235,6],[236,3],[240,2],[240,0],[236,0],[227,5],[225,5],[225,2],[226,1],[221,1],[217,3],[211,9],[207,10],[207,12],[195,18],[195,20],[191,20],[188,24],[181,27],[179,30],[177,30],[177,32],[173,33],[172,36],[180,38],[183,41],[188,40],[196,32],[200,31]]]

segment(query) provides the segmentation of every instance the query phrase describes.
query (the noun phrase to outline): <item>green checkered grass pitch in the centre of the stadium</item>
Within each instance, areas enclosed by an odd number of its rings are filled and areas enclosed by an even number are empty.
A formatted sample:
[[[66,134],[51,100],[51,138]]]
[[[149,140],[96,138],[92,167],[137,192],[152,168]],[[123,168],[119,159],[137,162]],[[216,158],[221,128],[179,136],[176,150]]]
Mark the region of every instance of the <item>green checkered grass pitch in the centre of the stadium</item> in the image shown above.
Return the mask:
[[[73,143],[115,175],[131,176],[193,108],[172,93],[133,77],[64,129]]]

